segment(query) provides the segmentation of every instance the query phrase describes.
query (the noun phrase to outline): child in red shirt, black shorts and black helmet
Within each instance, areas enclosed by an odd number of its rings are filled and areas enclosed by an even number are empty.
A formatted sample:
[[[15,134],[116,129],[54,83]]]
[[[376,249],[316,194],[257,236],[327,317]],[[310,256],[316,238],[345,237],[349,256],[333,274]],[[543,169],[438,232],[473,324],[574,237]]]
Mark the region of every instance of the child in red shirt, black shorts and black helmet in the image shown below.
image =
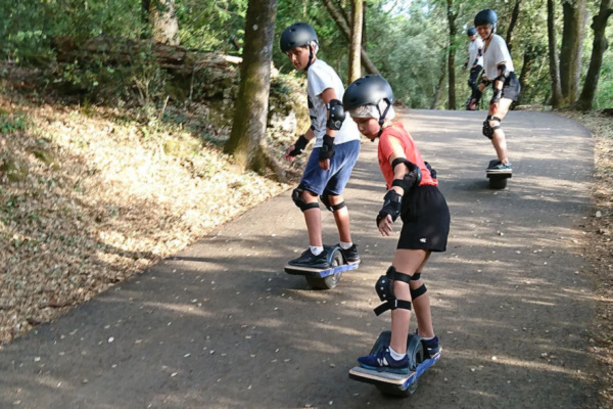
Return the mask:
[[[445,251],[449,235],[449,208],[438,189],[436,174],[424,162],[413,138],[402,123],[392,123],[394,94],[389,83],[378,75],[366,75],[345,91],[343,105],[370,140],[379,138],[379,167],[387,193],[377,215],[379,232],[389,236],[394,221],[403,221],[392,266],[375,285],[383,304],[377,315],[392,310],[392,337],[389,347],[358,358],[362,367],[392,373],[409,373],[406,340],[411,304],[417,317],[417,332],[430,355],[440,350],[432,327],[430,299],[421,280],[432,251]]]

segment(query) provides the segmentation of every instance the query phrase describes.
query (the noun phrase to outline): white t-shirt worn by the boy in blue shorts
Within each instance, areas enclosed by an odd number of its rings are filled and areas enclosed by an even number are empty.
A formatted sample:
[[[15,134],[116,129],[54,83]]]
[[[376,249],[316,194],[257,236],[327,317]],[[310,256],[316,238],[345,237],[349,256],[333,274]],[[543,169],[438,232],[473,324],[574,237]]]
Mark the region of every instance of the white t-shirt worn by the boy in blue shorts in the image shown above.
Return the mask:
[[[308,114],[311,117],[311,125],[315,133],[315,148],[321,148],[326,134],[326,122],[328,120],[328,109],[321,93],[327,88],[332,88],[337,94],[337,99],[343,101],[345,87],[338,74],[326,62],[316,59],[307,71],[307,97]],[[345,121],[341,129],[334,134],[334,144],[349,142],[350,140],[360,139],[360,131],[356,123],[352,120],[349,113],[345,115]]]

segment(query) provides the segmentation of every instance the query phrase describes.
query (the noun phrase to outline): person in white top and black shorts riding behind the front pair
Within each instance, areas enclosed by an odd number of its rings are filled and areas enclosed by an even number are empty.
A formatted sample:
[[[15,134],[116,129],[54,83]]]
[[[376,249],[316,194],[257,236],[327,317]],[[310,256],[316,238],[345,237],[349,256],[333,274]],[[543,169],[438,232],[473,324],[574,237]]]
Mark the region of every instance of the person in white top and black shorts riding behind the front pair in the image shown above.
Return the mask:
[[[486,86],[492,84],[493,95],[490,100],[487,119],[483,121],[483,134],[492,140],[498,162],[487,169],[488,173],[511,174],[512,167],[509,162],[506,139],[500,123],[513,101],[519,96],[519,80],[514,72],[513,61],[509,49],[503,38],[494,34],[498,16],[492,9],[481,10],[474,17],[479,36],[484,40],[483,67],[484,74],[479,83],[478,96]]]

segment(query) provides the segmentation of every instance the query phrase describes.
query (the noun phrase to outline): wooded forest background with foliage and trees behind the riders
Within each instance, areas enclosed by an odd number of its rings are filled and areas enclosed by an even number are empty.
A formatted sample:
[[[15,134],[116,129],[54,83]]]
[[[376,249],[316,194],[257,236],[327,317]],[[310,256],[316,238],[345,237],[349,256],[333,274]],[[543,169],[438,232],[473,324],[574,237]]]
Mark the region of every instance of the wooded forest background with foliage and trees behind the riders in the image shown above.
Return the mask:
[[[254,1],[254,3],[256,3]],[[260,2],[266,3],[266,2]],[[279,1],[276,11],[273,61],[282,73],[292,71],[278,48],[278,36],[295,21],[307,21],[319,35],[319,56],[348,80],[352,5],[349,0]],[[190,52],[215,52],[241,56],[248,0],[17,0],[0,5],[0,56],[20,64],[50,67],[58,62],[60,44],[78,48],[92,39],[146,39],[155,37],[166,44],[181,45]],[[610,14],[607,0],[368,0],[362,2],[364,24],[362,48],[373,66],[386,77],[398,99],[413,108],[463,107],[468,96],[466,73],[466,29],[483,8],[497,11],[497,33],[508,41],[516,72],[522,82],[519,104],[551,105],[550,58],[559,53],[562,91],[567,101],[576,102],[582,86],[595,80],[587,76],[592,59],[592,17]],[[549,47],[547,18],[551,13],[555,50]],[[604,25],[607,20],[604,18]],[[343,29],[343,23],[346,28]],[[605,36],[613,27],[606,26]],[[88,49],[90,52],[91,47]],[[131,70],[140,64],[151,71],[147,50],[133,56]],[[108,53],[107,53],[108,54]],[[72,57],[72,55],[70,55]],[[613,51],[606,49],[600,80],[592,99],[596,109],[611,105],[613,98]],[[64,55],[65,57],[65,55]],[[139,61],[140,58],[140,61]],[[89,100],[116,104],[134,88],[132,78],[118,69],[108,55],[66,59],[53,66],[56,82],[64,82],[88,94]],[[576,67],[576,68],[575,68]],[[575,70],[575,71],[573,71]],[[367,70],[368,71],[368,70]],[[147,77],[150,95],[158,105],[168,94],[161,88],[168,72]],[[172,75],[172,73],[170,74]],[[565,78],[571,82],[565,85]],[[126,83],[127,82],[127,83]],[[141,80],[142,82],[142,80]],[[574,82],[574,84],[573,84]],[[112,84],[112,90],[109,86]],[[576,88],[568,96],[568,88]],[[140,86],[142,88],[142,86]],[[572,92],[572,91],[571,91]],[[171,93],[172,94],[172,93]],[[171,96],[172,98],[172,96]],[[555,105],[555,104],[554,104]]]

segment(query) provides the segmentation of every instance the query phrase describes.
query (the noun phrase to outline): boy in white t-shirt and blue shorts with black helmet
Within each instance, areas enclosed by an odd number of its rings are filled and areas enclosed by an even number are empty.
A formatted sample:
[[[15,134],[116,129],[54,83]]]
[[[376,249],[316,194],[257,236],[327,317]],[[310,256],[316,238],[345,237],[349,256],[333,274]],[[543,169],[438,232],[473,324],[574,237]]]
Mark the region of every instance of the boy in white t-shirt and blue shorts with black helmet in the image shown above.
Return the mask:
[[[324,251],[318,196],[334,215],[345,260],[357,262],[360,258],[351,240],[349,211],[342,195],[360,153],[360,132],[343,109],[345,87],[334,69],[317,58],[319,40],[307,23],[287,27],[281,34],[280,45],[295,69],[307,72],[311,117],[311,128],[287,148],[284,159],[293,161],[315,139],[302,180],[292,191],[292,200],[302,210],[307,223],[309,248],[288,264],[314,269],[332,267]]]

